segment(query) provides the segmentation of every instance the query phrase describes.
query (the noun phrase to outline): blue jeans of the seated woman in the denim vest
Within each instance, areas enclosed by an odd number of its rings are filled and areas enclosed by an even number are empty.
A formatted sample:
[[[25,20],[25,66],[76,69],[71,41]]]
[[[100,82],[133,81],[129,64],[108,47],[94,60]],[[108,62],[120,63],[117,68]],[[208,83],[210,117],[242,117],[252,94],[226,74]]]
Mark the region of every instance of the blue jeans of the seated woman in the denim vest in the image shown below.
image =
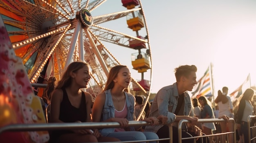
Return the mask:
[[[139,131],[112,132],[107,136],[115,137],[121,141],[142,141],[142,140],[159,139],[157,134],[155,134],[154,132],[139,132]],[[151,141],[150,143],[156,143],[156,141]]]

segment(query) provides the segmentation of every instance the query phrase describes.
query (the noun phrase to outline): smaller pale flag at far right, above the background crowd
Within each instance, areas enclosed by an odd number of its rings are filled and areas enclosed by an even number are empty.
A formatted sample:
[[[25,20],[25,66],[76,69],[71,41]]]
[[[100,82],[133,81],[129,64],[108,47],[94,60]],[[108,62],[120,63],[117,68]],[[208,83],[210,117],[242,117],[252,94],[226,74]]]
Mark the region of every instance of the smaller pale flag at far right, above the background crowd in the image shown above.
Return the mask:
[[[245,90],[247,88],[251,87],[251,78],[250,78],[250,74],[247,76],[247,78],[245,79],[245,81],[243,82],[242,85],[240,85],[235,91],[233,91],[230,94],[231,99],[235,99],[238,98],[240,95],[243,94],[243,92],[245,92]]]

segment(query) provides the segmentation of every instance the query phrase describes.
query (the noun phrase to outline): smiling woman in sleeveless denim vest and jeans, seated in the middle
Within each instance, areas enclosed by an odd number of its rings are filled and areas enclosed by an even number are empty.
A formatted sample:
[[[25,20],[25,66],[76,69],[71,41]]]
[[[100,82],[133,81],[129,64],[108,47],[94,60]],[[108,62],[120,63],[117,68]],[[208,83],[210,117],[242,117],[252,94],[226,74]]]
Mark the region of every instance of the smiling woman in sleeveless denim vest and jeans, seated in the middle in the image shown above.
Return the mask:
[[[103,136],[115,137],[121,141],[159,139],[154,132],[139,132],[135,131],[134,127],[128,127],[129,121],[133,121],[135,106],[135,97],[125,92],[130,81],[130,70],[127,66],[118,65],[111,68],[105,89],[94,101],[92,121],[118,122],[120,128],[104,128],[100,132]],[[150,117],[144,121],[157,124],[159,119],[162,122],[167,120],[161,116],[158,119]]]

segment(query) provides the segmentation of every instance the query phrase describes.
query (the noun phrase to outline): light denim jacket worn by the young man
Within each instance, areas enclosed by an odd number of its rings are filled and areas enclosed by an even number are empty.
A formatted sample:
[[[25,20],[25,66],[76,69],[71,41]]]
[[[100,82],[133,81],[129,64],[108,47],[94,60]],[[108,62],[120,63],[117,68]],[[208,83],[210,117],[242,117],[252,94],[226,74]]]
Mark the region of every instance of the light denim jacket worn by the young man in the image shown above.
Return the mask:
[[[173,85],[161,88],[157,92],[157,95],[155,95],[155,99],[151,105],[149,117],[158,117],[162,114],[168,117],[167,123],[173,123],[173,121],[176,119],[174,112],[177,108],[178,98],[179,94],[176,82]],[[184,92],[184,102],[184,116],[194,117],[191,99],[188,92]],[[146,126],[145,131],[156,133],[160,128],[162,128],[162,126],[163,125]]]

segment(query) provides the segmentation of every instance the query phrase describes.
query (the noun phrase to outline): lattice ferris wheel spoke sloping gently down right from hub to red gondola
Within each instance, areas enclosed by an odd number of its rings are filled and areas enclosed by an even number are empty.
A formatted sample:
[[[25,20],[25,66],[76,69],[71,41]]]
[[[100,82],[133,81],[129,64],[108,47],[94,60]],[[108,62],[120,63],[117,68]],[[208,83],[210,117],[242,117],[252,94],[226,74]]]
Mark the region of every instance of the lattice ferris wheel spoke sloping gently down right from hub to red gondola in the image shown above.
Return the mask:
[[[147,40],[143,40],[141,38],[134,37],[125,33],[107,29],[98,25],[93,25],[90,29],[92,33],[99,37],[100,40],[110,42],[113,44],[118,44],[120,46],[124,46],[127,48],[131,48],[129,46],[129,40],[138,40],[141,42],[148,43]]]

